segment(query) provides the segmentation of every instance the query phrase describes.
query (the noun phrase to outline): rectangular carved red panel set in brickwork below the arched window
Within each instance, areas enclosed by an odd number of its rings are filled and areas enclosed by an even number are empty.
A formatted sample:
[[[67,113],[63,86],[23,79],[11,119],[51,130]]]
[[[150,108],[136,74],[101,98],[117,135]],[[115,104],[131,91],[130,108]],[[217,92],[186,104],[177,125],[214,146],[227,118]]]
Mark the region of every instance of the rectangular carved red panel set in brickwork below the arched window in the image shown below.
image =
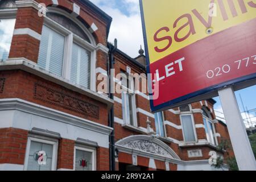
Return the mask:
[[[50,88],[46,84],[36,83],[34,97],[38,100],[48,102],[52,105],[57,105],[76,111],[77,113],[88,115],[92,118],[99,118],[99,107],[70,94],[63,90]]]

